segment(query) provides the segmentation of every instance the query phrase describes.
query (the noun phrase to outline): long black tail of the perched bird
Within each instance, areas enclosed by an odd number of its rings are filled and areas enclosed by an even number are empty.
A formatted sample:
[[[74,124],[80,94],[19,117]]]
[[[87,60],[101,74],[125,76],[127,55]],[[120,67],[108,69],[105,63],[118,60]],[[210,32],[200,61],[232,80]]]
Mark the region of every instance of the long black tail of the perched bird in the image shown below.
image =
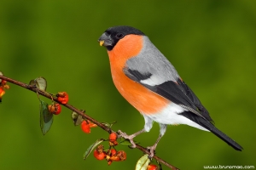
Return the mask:
[[[189,118],[191,121],[196,122],[197,124],[201,125],[202,127],[207,128],[209,131],[211,131],[213,134],[218,136],[218,138],[223,139],[224,142],[232,146],[235,150],[242,150],[243,148],[241,147],[240,144],[237,144],[233,139],[230,139],[226,134],[218,130],[218,128],[214,127],[212,122],[209,122],[202,118],[201,116],[197,116],[194,113],[191,113],[189,111],[185,111],[181,113],[180,115],[185,116]]]

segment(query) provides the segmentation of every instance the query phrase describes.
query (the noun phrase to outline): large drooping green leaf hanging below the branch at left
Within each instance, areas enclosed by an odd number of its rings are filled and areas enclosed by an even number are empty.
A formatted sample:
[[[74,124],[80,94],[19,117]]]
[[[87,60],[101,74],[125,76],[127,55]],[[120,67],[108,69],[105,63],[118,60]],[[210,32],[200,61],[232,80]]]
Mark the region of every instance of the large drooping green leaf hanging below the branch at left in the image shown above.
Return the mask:
[[[40,127],[43,134],[49,131],[53,122],[53,114],[48,111],[48,104],[40,100]]]

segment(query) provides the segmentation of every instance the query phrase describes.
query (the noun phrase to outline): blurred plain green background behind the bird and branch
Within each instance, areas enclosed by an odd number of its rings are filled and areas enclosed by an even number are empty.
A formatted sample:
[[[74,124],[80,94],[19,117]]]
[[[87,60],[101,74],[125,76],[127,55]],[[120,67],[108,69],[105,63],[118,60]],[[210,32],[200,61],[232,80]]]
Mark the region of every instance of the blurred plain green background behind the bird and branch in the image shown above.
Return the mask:
[[[256,166],[256,3],[198,1],[0,2],[0,71],[20,82],[45,77],[48,91],[67,91],[69,103],[114,130],[134,133],[143,117],[113,86],[106,49],[97,39],[110,26],[134,26],[150,37],[207,107],[216,126],[245,150],[188,126],[169,126],[157,155],[181,169]],[[84,151],[100,128],[85,134],[62,110],[45,136],[37,95],[10,84],[0,105],[0,169],[134,169],[139,150],[118,146],[127,160],[96,161]],[[44,98],[43,98],[44,99]],[[44,99],[50,103],[49,99]],[[159,127],[136,138],[154,144]],[[164,167],[164,169],[167,169]]]

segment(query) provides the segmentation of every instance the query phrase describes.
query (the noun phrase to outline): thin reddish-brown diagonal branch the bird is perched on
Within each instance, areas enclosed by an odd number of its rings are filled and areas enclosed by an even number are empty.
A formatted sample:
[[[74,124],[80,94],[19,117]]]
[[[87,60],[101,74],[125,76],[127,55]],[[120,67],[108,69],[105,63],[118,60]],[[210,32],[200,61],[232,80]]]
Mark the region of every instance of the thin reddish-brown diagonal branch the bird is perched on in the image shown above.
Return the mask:
[[[56,103],[59,103],[60,105],[62,105],[56,97],[52,96],[51,94],[48,94],[47,92],[45,91],[42,91],[40,90],[39,88],[37,88],[36,86],[33,86],[33,85],[29,85],[29,84],[26,84],[24,82],[19,82],[19,81],[16,81],[14,79],[11,79],[9,77],[3,77],[0,75],[0,79],[3,79],[3,80],[6,80],[7,82],[11,82],[15,85],[18,85],[20,86],[21,88],[26,88],[28,90],[31,90],[32,92],[34,93],[38,93],[48,99],[53,99]],[[105,125],[103,125],[101,122],[97,122],[94,118],[84,114],[83,111],[80,111],[79,109],[75,108],[73,105],[69,105],[69,104],[66,104],[66,105],[63,105],[65,107],[67,107],[69,110],[71,111],[75,111],[76,113],[78,113],[80,116],[82,116],[83,118],[85,119],[88,119],[90,122],[93,122],[95,123],[98,127],[101,127],[103,130],[105,130],[106,132],[108,133],[116,133],[115,131],[113,131],[110,127],[106,127]],[[147,154],[150,154],[149,151],[144,148],[143,146],[139,145],[139,144],[136,144],[136,148],[138,150],[142,150],[144,153],[147,153]],[[161,162],[162,164],[166,165],[166,167],[170,167],[172,168],[173,170],[178,170],[177,167],[174,167],[172,166],[171,164],[169,164],[168,162],[162,160],[159,156],[155,156],[153,157],[156,161],[159,161]]]

